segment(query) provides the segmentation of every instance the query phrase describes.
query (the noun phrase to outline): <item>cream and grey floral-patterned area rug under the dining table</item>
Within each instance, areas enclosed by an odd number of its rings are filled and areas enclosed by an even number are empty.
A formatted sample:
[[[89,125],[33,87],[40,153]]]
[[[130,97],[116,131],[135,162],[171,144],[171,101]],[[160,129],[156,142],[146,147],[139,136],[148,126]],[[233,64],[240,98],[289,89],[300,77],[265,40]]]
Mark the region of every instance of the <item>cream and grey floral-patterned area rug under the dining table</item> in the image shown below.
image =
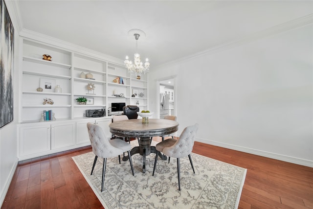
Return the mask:
[[[152,141],[154,145],[155,141]],[[136,140],[132,146],[137,146]],[[126,153],[127,155],[127,153]],[[155,154],[146,157],[142,173],[142,156],[132,156],[134,176],[129,161],[107,160],[104,191],[101,192],[103,159],[98,158],[90,175],[94,154],[74,156],[73,160],[105,209],[236,209],[246,178],[246,169],[192,153],[196,174],[188,157],[180,159],[178,190],[177,161],[158,159],[152,176]]]

